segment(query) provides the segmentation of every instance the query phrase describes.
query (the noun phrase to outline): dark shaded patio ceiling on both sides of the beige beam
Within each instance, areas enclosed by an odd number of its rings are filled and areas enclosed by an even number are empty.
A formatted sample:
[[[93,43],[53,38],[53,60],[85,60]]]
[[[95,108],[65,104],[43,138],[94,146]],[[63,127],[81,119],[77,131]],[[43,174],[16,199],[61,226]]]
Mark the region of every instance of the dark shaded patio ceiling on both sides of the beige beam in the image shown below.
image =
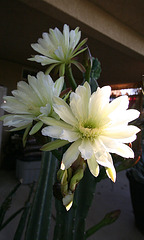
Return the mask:
[[[144,74],[144,57],[129,54],[92,36],[85,25],[67,14],[61,13],[59,21],[54,8],[48,5],[49,12],[30,6],[30,3],[40,1],[0,1],[0,59],[21,63],[28,67],[37,67],[37,63],[27,61],[34,54],[30,44],[41,37],[42,32],[58,27],[62,29],[66,22],[71,28],[79,26],[82,30],[82,38],[88,37],[88,46],[94,57],[97,57],[102,65],[102,74],[99,84],[118,84],[140,82]],[[43,1],[41,1],[43,2]],[[93,0],[94,4],[106,11],[111,16],[121,21],[126,26],[144,36],[144,3],[142,0]],[[137,4],[136,4],[137,3]],[[52,11],[53,10],[53,11]],[[51,13],[51,14],[49,14]],[[43,70],[43,68],[41,68]],[[81,81],[81,75],[77,75]]]

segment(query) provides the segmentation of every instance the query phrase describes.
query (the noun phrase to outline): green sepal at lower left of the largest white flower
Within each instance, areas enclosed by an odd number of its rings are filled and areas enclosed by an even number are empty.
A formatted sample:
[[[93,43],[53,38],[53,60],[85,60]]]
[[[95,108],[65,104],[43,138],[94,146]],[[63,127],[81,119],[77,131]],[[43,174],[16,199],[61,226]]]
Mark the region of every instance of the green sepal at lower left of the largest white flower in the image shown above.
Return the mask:
[[[57,148],[63,147],[68,143],[69,142],[66,141],[66,140],[57,139],[57,140],[54,140],[52,142],[49,142],[49,143],[46,143],[45,145],[43,145],[41,147],[41,150],[42,151],[52,151],[52,150],[55,150]]]

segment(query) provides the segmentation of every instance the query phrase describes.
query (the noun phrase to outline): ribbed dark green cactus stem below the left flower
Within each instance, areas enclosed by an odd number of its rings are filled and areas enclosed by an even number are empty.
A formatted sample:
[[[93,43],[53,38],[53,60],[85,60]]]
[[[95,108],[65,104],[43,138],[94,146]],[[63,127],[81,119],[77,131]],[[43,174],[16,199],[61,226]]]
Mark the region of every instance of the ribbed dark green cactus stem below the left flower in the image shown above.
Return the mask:
[[[57,160],[51,152],[44,152],[40,178],[31,215],[28,221],[25,240],[48,240],[51,220],[53,183]]]

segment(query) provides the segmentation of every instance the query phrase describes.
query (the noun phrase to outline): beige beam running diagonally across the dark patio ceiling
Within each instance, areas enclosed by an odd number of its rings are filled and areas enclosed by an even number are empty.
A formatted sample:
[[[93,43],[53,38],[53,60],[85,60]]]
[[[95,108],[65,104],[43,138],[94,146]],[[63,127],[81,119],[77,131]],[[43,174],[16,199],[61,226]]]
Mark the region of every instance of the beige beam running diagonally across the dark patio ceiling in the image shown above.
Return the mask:
[[[144,37],[89,0],[21,0],[57,21],[81,23],[89,36],[133,56],[144,56]]]

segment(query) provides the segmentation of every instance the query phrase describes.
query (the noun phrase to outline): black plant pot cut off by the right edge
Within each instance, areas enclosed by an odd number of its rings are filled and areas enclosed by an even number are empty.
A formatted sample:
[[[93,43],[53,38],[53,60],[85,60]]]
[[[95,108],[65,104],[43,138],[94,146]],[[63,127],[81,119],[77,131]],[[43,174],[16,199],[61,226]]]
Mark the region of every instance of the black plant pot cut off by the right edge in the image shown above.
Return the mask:
[[[144,184],[127,172],[136,227],[144,234]]]

